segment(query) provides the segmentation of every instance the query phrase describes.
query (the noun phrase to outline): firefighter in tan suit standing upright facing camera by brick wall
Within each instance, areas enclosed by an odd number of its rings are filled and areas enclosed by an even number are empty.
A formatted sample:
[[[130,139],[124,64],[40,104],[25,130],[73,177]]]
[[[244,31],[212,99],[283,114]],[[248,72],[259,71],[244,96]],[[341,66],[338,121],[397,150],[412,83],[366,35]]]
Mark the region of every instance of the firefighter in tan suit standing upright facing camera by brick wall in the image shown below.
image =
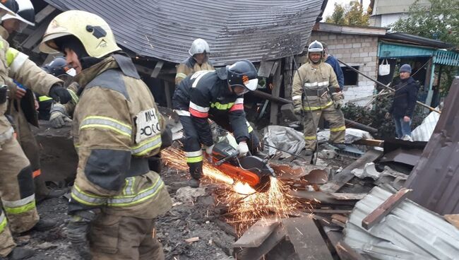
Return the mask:
[[[299,67],[293,78],[294,112],[302,115],[306,154],[316,150],[318,121],[323,117],[330,124],[330,141],[343,148],[345,120],[340,110],[344,96],[333,68],[323,62],[323,46],[314,41],[308,47],[309,63]]]

